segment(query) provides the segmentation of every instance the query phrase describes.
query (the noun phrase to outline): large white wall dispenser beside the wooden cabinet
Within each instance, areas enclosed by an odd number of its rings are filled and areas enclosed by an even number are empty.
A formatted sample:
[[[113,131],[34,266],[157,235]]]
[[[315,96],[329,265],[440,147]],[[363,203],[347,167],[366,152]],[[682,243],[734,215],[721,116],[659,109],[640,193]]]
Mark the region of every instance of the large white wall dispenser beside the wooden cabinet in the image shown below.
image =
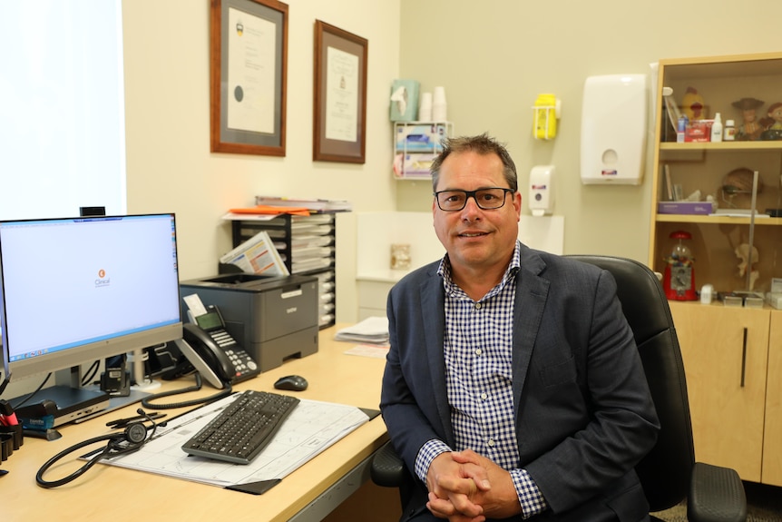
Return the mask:
[[[638,185],[647,126],[646,74],[586,79],[582,108],[582,182]]]

